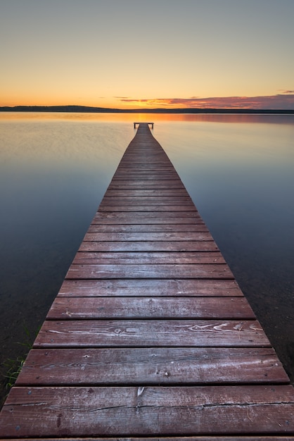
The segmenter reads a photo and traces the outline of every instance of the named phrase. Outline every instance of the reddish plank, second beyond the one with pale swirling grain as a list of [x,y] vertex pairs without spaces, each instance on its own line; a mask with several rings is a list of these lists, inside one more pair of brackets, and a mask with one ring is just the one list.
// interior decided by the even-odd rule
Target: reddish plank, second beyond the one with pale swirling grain
[[63,297],[243,297],[236,280],[100,279],[64,280]]

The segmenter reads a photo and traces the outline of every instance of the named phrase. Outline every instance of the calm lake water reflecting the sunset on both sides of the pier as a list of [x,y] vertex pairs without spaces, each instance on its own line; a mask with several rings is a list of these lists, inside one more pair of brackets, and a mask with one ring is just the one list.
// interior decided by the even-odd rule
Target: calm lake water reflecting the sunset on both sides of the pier
[[293,115],[0,113],[1,363],[44,321],[135,120],[155,122],[294,380]]

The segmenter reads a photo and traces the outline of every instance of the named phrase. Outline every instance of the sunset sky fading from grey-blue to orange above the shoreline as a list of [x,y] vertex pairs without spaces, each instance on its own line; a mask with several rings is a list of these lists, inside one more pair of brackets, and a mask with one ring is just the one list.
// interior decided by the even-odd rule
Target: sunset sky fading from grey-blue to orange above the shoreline
[[294,0],[0,0],[0,106],[294,109]]

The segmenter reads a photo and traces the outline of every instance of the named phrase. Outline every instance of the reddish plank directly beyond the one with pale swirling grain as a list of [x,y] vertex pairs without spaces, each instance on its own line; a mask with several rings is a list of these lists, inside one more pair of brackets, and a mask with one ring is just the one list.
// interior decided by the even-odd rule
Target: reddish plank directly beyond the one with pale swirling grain
[[243,318],[255,315],[242,297],[56,297],[48,319]]

